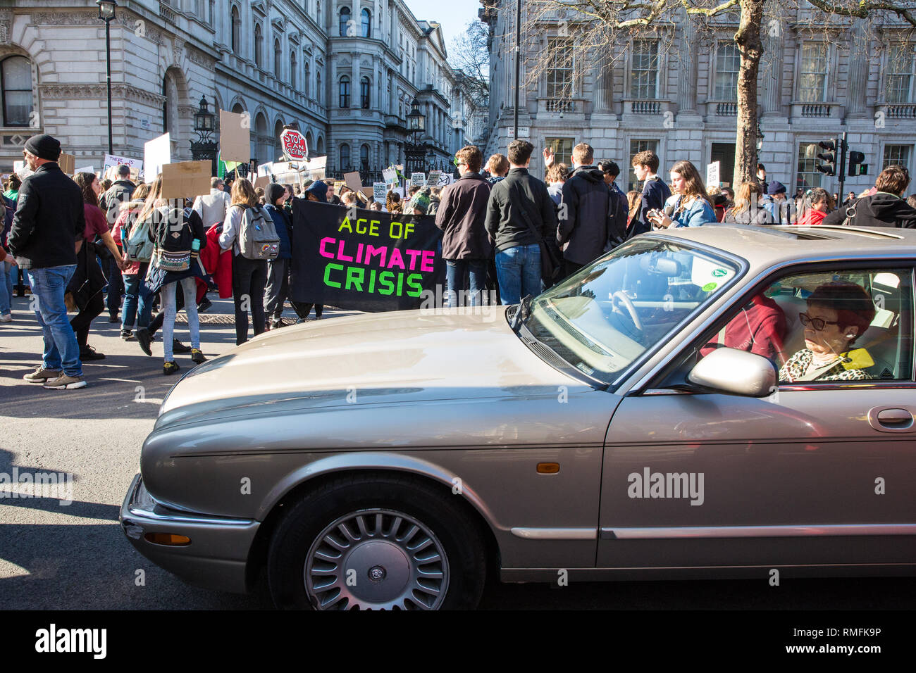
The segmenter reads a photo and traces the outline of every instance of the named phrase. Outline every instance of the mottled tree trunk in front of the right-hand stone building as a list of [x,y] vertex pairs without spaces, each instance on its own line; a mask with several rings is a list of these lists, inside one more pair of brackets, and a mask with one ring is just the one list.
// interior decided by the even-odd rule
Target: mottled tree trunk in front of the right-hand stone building
[[[741,22],[735,41],[741,52],[738,71],[735,185],[757,179],[757,74],[763,44],[760,22],[766,0],[741,0]],[[734,189],[734,188],[733,188]]]

